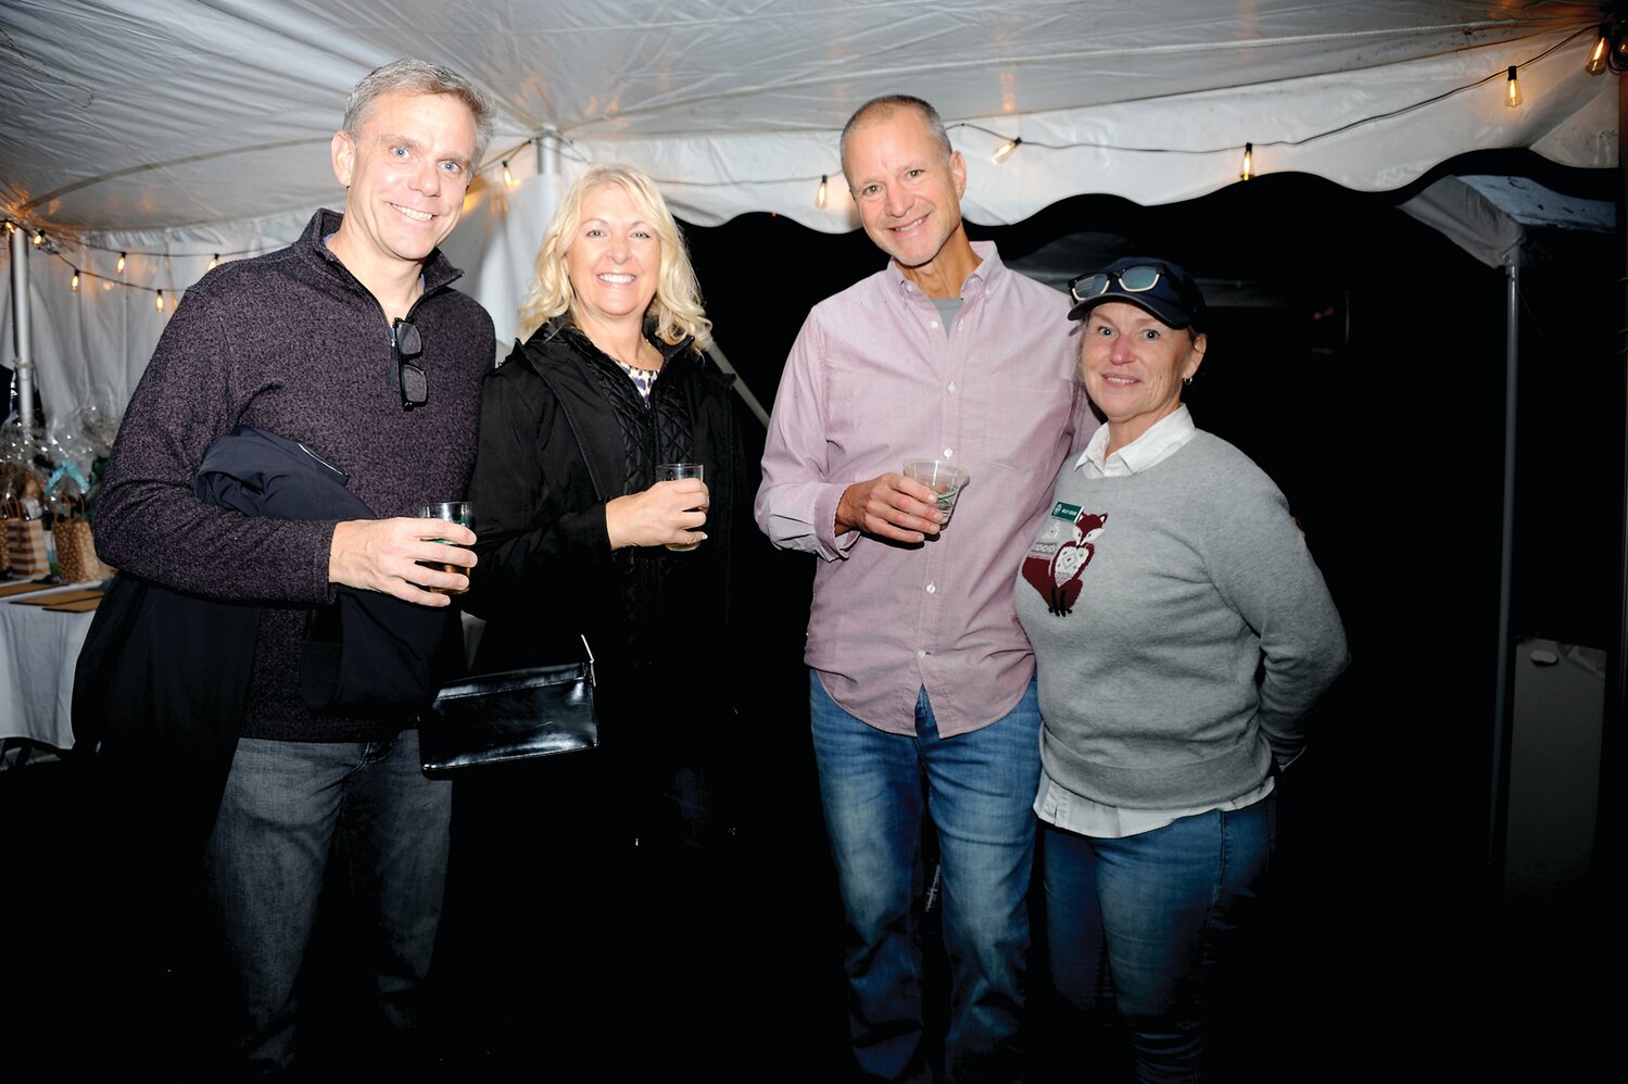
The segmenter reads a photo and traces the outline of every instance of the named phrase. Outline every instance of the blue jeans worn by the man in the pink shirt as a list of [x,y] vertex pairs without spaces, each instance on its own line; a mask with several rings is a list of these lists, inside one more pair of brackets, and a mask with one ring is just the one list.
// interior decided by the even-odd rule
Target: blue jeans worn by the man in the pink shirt
[[848,923],[850,1030],[877,1079],[930,1079],[921,1050],[925,817],[938,830],[951,965],[944,1071],[954,1081],[1021,1076],[1040,708],[1034,682],[983,729],[939,737],[926,690],[917,732],[887,734],[843,711],[809,675],[821,801]]

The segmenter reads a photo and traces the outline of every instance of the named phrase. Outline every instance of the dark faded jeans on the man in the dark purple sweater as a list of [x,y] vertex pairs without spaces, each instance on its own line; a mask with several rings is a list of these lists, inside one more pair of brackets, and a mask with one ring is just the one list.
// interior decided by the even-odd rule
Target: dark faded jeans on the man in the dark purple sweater
[[207,889],[251,1066],[293,1060],[295,981],[335,832],[363,908],[358,924],[371,938],[357,954],[381,1022],[418,1038],[451,807],[451,785],[423,776],[417,731],[381,742],[238,742],[208,841]]

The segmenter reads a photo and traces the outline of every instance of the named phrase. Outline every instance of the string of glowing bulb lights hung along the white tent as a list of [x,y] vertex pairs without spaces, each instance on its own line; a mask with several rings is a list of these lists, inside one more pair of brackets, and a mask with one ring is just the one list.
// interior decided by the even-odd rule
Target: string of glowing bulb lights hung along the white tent
[[[1525,96],[1524,96],[1524,93],[1521,90],[1521,83],[1519,83],[1519,78],[1517,78],[1519,72],[1522,68],[1525,68],[1525,67],[1529,67],[1532,63],[1537,63],[1538,60],[1548,57],[1555,50],[1569,46],[1578,37],[1582,37],[1586,34],[1594,34],[1595,36],[1595,44],[1594,44],[1594,49],[1591,49],[1591,52],[1589,52],[1587,62],[1584,63],[1584,70],[1589,75],[1600,75],[1600,73],[1604,73],[1607,70],[1612,72],[1613,75],[1621,75],[1621,73],[1628,72],[1628,0],[1607,0],[1607,3],[1602,5],[1602,16],[1604,18],[1602,18],[1602,21],[1599,24],[1584,26],[1584,28],[1578,29],[1576,33],[1568,34],[1561,41],[1555,42],[1548,49],[1543,49],[1537,55],[1532,55],[1532,57],[1529,57],[1525,60],[1521,60],[1519,63],[1508,65],[1508,67],[1504,67],[1504,68],[1501,68],[1498,72],[1493,72],[1493,73],[1490,73],[1490,75],[1486,75],[1483,78],[1478,78],[1478,80],[1473,80],[1473,81],[1468,81],[1468,83],[1464,83],[1464,85],[1459,85],[1459,86],[1452,86],[1452,88],[1449,88],[1449,90],[1446,90],[1446,91],[1442,91],[1439,94],[1433,94],[1429,98],[1424,98],[1424,99],[1416,101],[1416,103],[1410,103],[1407,106],[1400,106],[1397,109],[1387,109],[1384,112],[1374,112],[1374,114],[1369,114],[1369,116],[1364,116],[1364,117],[1356,117],[1356,119],[1346,120],[1346,122],[1343,122],[1343,124],[1340,124],[1337,127],[1330,127],[1330,129],[1325,129],[1322,132],[1315,132],[1312,135],[1304,135],[1304,137],[1299,137],[1299,138],[1281,138],[1281,140],[1265,140],[1265,142],[1250,140],[1250,142],[1245,142],[1242,146],[1237,146],[1237,145],[1231,145],[1231,146],[1203,146],[1203,148],[1187,148],[1187,146],[1127,146],[1127,145],[1115,145],[1115,143],[1104,143],[1104,142],[1047,143],[1047,142],[1042,142],[1042,140],[1026,138],[1022,135],[1000,132],[1000,130],[985,127],[982,124],[975,124],[972,120],[962,120],[962,122],[957,122],[957,124],[951,124],[947,127],[949,129],[967,129],[967,130],[972,130],[972,132],[980,132],[983,135],[988,135],[993,140],[998,140],[1000,143],[998,143],[996,150],[991,155],[991,161],[996,163],[996,164],[1009,161],[1022,148],[1034,148],[1034,150],[1042,150],[1042,151],[1045,151],[1045,150],[1063,151],[1063,150],[1076,150],[1076,148],[1096,148],[1096,150],[1115,151],[1115,153],[1128,153],[1128,155],[1218,155],[1218,153],[1226,153],[1226,151],[1231,150],[1231,151],[1236,151],[1236,153],[1241,155],[1239,179],[1241,181],[1250,181],[1255,176],[1258,176],[1255,156],[1257,156],[1257,151],[1260,148],[1304,146],[1307,143],[1314,143],[1317,140],[1324,140],[1324,138],[1338,135],[1341,132],[1350,132],[1351,129],[1358,129],[1358,127],[1366,125],[1366,124],[1377,124],[1377,122],[1382,122],[1382,120],[1389,120],[1392,117],[1398,117],[1398,116],[1403,116],[1403,114],[1408,114],[1408,112],[1413,112],[1413,111],[1418,111],[1418,109],[1429,107],[1429,106],[1433,106],[1433,104],[1436,104],[1439,101],[1444,101],[1447,98],[1452,98],[1455,94],[1464,94],[1464,93],[1478,90],[1481,86],[1486,86],[1488,83],[1496,83],[1499,80],[1504,81],[1504,104],[1508,107],[1511,107],[1511,109],[1519,109],[1524,104],[1524,101],[1525,101]],[[550,140],[552,145],[554,145],[554,148],[555,148],[555,151],[562,158],[575,161],[575,163],[580,163],[580,164],[593,164],[593,160],[589,156],[583,155],[570,138],[567,138],[567,137],[563,137],[563,135],[550,130],[550,132],[545,132],[545,133],[532,135],[532,137],[529,137],[526,140],[521,140],[519,143],[514,143],[511,146],[506,146],[506,148],[493,153],[492,156],[487,158],[485,163],[482,163],[480,166],[477,166],[477,174],[487,174],[488,171],[498,173],[500,174],[500,184],[505,189],[516,187],[518,181],[514,177],[514,171],[511,168],[511,163],[514,161],[516,155],[521,155],[527,148],[542,145],[544,140]],[[840,169],[822,173],[822,174],[801,174],[801,176],[772,177],[772,179],[760,179],[760,181],[742,181],[741,177],[731,177],[728,181],[695,181],[695,179],[689,179],[689,177],[653,177],[653,181],[656,181],[656,184],[685,186],[685,187],[728,187],[728,186],[739,186],[739,184],[814,184],[814,186],[817,186],[816,190],[814,190],[814,207],[824,210],[827,207],[827,203],[829,203],[830,179],[832,179],[832,176],[840,176]],[[151,293],[151,295],[155,295],[153,308],[158,313],[164,313],[166,311],[168,301],[164,298],[164,290],[163,288],[147,286],[147,285],[142,285],[142,283],[137,283],[137,282],[129,282],[125,278],[116,278],[116,277],[96,273],[96,272],[90,270],[88,267],[75,264],[72,259],[68,259],[60,251],[60,244],[55,239],[52,239],[42,228],[33,226],[33,225],[29,225],[26,221],[13,218],[13,216],[5,216],[0,221],[3,221],[3,228],[5,228],[7,233],[16,231],[16,229],[23,229],[23,231],[31,233],[33,234],[31,241],[33,241],[33,246],[36,249],[41,249],[44,252],[49,252],[49,254],[55,256],[70,270],[68,288],[73,290],[75,293],[80,291],[83,278],[93,278],[93,280],[101,282],[104,290],[111,290],[114,286],[124,286],[125,290],[142,290],[142,291]],[[80,241],[80,243],[77,243],[77,246],[80,249],[83,249],[83,251],[91,251],[91,252],[104,252],[104,254],[119,252],[119,259],[116,262],[116,275],[122,275],[124,273],[125,265],[127,265],[127,262],[129,262],[129,259],[132,256],[140,256],[140,257],[147,257],[147,259],[163,259],[166,262],[173,260],[173,259],[200,259],[204,256],[202,252],[181,254],[181,252],[147,252],[147,251],[137,251],[137,249],[114,249],[114,247],[109,247],[109,246],[99,246],[99,244],[86,243],[86,241]],[[257,256],[260,251],[262,249],[246,249],[246,251],[234,251],[234,252],[212,252],[207,270],[213,270],[221,260],[244,257],[244,256]],[[186,293],[184,288],[181,288],[181,290],[171,288],[171,299],[177,299],[184,293]]]

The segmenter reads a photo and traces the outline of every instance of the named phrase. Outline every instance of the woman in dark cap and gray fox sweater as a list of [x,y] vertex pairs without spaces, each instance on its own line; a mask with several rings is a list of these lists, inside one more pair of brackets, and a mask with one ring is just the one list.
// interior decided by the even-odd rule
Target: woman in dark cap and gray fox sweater
[[1107,418],[1024,558],[1052,978],[1117,1006],[1138,1079],[1200,1079],[1203,980],[1271,858],[1276,771],[1345,669],[1340,615],[1260,467],[1193,426],[1205,303],[1167,260],[1070,283]]

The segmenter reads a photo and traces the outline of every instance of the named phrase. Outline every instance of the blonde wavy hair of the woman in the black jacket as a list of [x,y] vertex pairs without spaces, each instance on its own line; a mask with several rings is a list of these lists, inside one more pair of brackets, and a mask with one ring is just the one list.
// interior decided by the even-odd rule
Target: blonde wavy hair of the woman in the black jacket
[[661,272],[656,275],[656,296],[645,313],[645,326],[666,343],[695,335],[695,348],[705,350],[711,343],[711,321],[702,309],[702,290],[690,265],[684,234],[667,210],[667,202],[656,190],[656,182],[633,166],[593,166],[567,190],[537,249],[531,291],[519,308],[519,337],[529,339],[534,330],[562,314],[573,324],[578,322],[576,293],[565,269],[565,254],[576,238],[583,200],[607,184],[622,186],[640,218],[656,229],[656,238],[661,241]]

